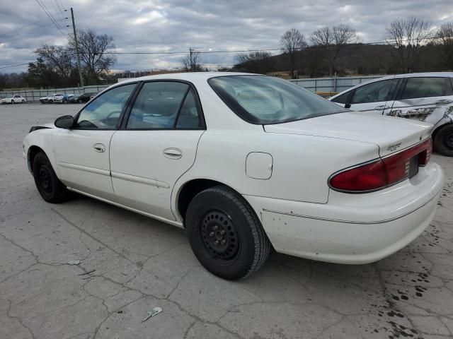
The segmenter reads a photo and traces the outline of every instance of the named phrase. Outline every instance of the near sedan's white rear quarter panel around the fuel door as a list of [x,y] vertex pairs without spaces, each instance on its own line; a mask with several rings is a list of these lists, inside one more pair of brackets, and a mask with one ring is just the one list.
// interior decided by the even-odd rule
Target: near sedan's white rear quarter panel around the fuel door
[[[272,155],[269,179],[247,176],[246,157],[251,152]],[[377,158],[378,154],[377,145],[338,138],[264,131],[206,131],[200,139],[195,164],[176,182],[174,191],[178,192],[192,179],[212,179],[243,195],[326,203],[331,174]],[[177,210],[176,198],[173,208]]]

